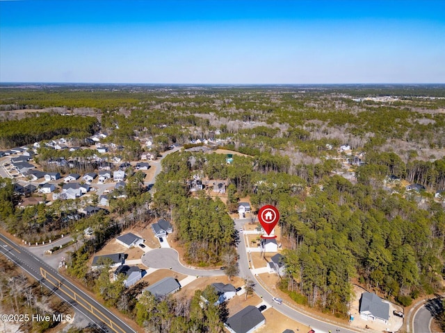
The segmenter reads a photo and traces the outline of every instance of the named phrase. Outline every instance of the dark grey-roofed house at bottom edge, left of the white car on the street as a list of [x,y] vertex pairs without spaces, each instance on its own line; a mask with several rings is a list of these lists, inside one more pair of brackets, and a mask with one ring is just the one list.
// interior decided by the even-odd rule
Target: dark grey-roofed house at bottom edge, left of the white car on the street
[[266,318],[257,307],[248,305],[229,317],[224,323],[231,333],[252,333],[266,323]]

